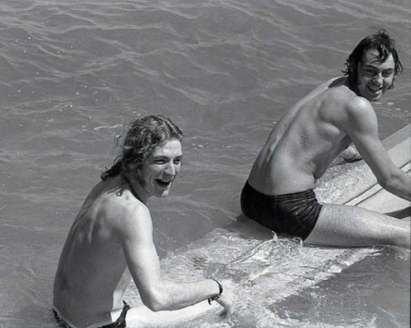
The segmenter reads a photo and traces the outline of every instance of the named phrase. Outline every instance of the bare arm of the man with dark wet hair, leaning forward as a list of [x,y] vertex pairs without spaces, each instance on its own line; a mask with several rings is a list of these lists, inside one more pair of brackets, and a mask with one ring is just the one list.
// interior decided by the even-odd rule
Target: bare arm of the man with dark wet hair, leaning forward
[[378,183],[394,195],[411,201],[411,177],[390,159],[378,136],[377,115],[367,100],[358,99],[350,104],[344,128]]

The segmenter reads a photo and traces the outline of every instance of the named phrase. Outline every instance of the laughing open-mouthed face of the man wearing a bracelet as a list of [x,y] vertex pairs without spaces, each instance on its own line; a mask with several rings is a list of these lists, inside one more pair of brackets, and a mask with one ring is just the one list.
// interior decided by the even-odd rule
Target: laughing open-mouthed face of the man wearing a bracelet
[[173,139],[154,148],[142,165],[140,183],[150,196],[169,195],[171,184],[180,172],[183,153],[181,142]]

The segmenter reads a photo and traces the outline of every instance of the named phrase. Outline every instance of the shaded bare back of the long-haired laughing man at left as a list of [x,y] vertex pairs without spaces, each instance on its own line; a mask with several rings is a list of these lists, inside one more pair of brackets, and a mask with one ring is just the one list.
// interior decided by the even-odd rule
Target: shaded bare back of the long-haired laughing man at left
[[87,324],[82,318],[111,322],[110,313],[121,310],[131,280],[115,219],[136,199],[128,190],[118,192],[119,179],[102,181],[91,190],[69,231],[55,275],[54,306],[79,326]]

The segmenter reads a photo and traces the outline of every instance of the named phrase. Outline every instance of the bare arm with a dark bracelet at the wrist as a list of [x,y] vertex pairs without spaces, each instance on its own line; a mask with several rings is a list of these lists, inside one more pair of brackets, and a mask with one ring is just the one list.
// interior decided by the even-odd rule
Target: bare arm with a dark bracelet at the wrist
[[[119,238],[127,265],[143,303],[152,311],[178,310],[214,297],[218,284],[211,280],[175,282],[161,276],[160,261],[153,242],[153,225],[148,209],[139,204],[127,209]],[[219,299],[230,312],[232,294],[225,288]]]

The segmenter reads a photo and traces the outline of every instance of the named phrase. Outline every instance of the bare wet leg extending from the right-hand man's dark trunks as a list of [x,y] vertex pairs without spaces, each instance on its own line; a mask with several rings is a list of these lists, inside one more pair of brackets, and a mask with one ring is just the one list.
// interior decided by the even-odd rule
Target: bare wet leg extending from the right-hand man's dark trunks
[[396,245],[410,248],[410,222],[361,207],[324,204],[304,241],[327,246]]

